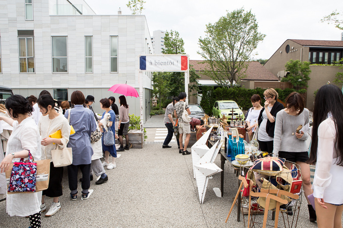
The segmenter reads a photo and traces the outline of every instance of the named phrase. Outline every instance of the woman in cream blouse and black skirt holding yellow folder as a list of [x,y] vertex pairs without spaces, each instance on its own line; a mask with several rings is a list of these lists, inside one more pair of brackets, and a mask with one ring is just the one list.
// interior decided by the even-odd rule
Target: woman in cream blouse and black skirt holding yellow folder
[[[54,215],[61,209],[59,197],[63,195],[62,178],[63,167],[54,167],[51,159],[51,150],[58,146],[67,146],[70,136],[70,125],[68,120],[56,112],[54,109],[55,102],[50,95],[42,95],[38,98],[38,107],[42,113],[42,117],[38,123],[39,133],[42,137],[41,149],[42,160],[50,159],[50,179],[49,186],[42,192],[42,204],[40,205],[41,212],[46,211],[45,196],[53,198],[51,206],[45,217]],[[50,138],[49,135],[61,130],[62,138]],[[61,148],[60,147],[60,148]]]

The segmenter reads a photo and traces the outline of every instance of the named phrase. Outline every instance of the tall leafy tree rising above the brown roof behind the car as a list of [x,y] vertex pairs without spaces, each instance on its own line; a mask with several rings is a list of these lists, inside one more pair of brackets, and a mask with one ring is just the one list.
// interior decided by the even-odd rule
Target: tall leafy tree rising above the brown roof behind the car
[[205,74],[227,88],[245,77],[252,51],[265,37],[258,32],[255,15],[244,8],[227,12],[214,24],[209,23],[205,33],[204,39],[199,38],[201,52],[198,52],[209,65]]

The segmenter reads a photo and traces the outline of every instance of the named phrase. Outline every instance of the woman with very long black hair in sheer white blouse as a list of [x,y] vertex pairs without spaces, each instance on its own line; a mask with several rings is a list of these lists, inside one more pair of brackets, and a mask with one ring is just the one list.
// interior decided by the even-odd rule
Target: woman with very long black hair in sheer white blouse
[[334,85],[322,86],[315,98],[309,164],[316,164],[313,196],[318,227],[342,227],[343,95]]

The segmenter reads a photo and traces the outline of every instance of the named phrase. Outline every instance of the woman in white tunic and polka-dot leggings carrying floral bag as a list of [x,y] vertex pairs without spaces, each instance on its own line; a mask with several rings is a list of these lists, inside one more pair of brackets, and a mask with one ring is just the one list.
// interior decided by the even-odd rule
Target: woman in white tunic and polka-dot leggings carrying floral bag
[[[21,95],[14,95],[6,100],[6,109],[11,118],[0,116],[0,120],[13,126],[8,140],[6,157],[0,163],[0,172],[8,170],[10,163],[27,158],[29,150],[35,161],[40,160],[40,135],[31,115],[32,106]],[[8,194],[6,211],[10,216],[29,216],[31,227],[40,227],[41,192]],[[14,225],[15,226],[15,225]]]

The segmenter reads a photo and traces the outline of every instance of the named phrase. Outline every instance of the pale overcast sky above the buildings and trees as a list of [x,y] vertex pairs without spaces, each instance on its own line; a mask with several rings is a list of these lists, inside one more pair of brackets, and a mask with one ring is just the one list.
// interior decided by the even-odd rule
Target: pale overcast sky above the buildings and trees
[[[130,15],[128,0],[85,0],[97,15]],[[334,25],[321,23],[320,19],[334,10],[343,11],[343,1],[289,0],[145,0],[142,15],[146,16],[150,35],[155,30],[175,30],[185,42],[190,59],[201,56],[198,40],[205,37],[206,24],[215,23],[233,11],[244,7],[252,10],[259,31],[266,35],[254,58],[268,59],[287,39],[340,40],[341,32]]]

